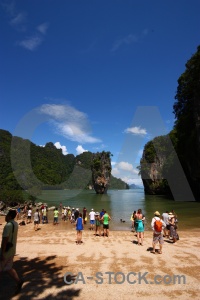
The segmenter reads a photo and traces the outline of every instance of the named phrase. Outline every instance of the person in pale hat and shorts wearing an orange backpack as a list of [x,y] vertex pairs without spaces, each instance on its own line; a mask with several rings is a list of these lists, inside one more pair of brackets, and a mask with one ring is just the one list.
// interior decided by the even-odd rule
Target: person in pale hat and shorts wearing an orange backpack
[[165,222],[160,218],[160,213],[159,211],[155,211],[154,217],[152,218],[151,221],[151,228],[153,230],[153,250],[151,253],[155,254],[156,253],[156,244],[159,243],[160,249],[158,251],[159,254],[162,254],[162,246],[164,243],[163,239],[163,228],[166,227]]

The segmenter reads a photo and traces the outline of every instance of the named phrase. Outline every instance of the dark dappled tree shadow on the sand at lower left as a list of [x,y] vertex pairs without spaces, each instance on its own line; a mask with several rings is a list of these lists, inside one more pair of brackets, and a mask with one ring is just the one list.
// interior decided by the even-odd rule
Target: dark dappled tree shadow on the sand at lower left
[[[72,288],[72,286],[64,282],[64,275],[67,272],[68,267],[65,266],[66,271],[63,272],[63,267],[56,262],[57,256],[48,256],[44,259],[33,258],[28,259],[22,257],[20,260],[14,262],[14,269],[18,272],[19,277],[24,279],[24,285],[21,292],[14,296],[15,282],[9,275],[4,272],[0,277],[0,299],[66,299],[72,300],[75,297],[79,297],[81,289]],[[75,280],[73,278],[67,278],[67,281]],[[63,288],[62,291],[57,289]],[[46,290],[48,291],[46,296],[42,295]]]

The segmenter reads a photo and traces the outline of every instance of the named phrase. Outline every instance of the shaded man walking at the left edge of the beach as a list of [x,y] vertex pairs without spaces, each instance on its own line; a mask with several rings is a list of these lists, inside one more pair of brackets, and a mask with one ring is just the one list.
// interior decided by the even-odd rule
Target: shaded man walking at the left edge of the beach
[[[23,285],[23,280],[19,278],[13,269],[13,258],[16,252],[18,223],[14,221],[16,210],[9,210],[5,217],[7,224],[4,226],[0,251],[0,274],[7,272],[16,282],[15,295],[17,295]],[[9,247],[10,245],[10,247]]]

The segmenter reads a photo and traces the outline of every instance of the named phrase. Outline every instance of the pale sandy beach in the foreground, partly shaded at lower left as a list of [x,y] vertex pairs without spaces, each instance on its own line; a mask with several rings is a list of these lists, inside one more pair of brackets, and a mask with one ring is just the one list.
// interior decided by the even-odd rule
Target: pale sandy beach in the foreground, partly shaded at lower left
[[165,239],[163,253],[152,254],[151,231],[138,246],[131,231],[100,237],[88,228],[77,245],[67,222],[20,226],[14,267],[25,283],[12,297],[15,283],[4,273],[0,299],[199,299],[200,229],[179,231],[177,243]]

